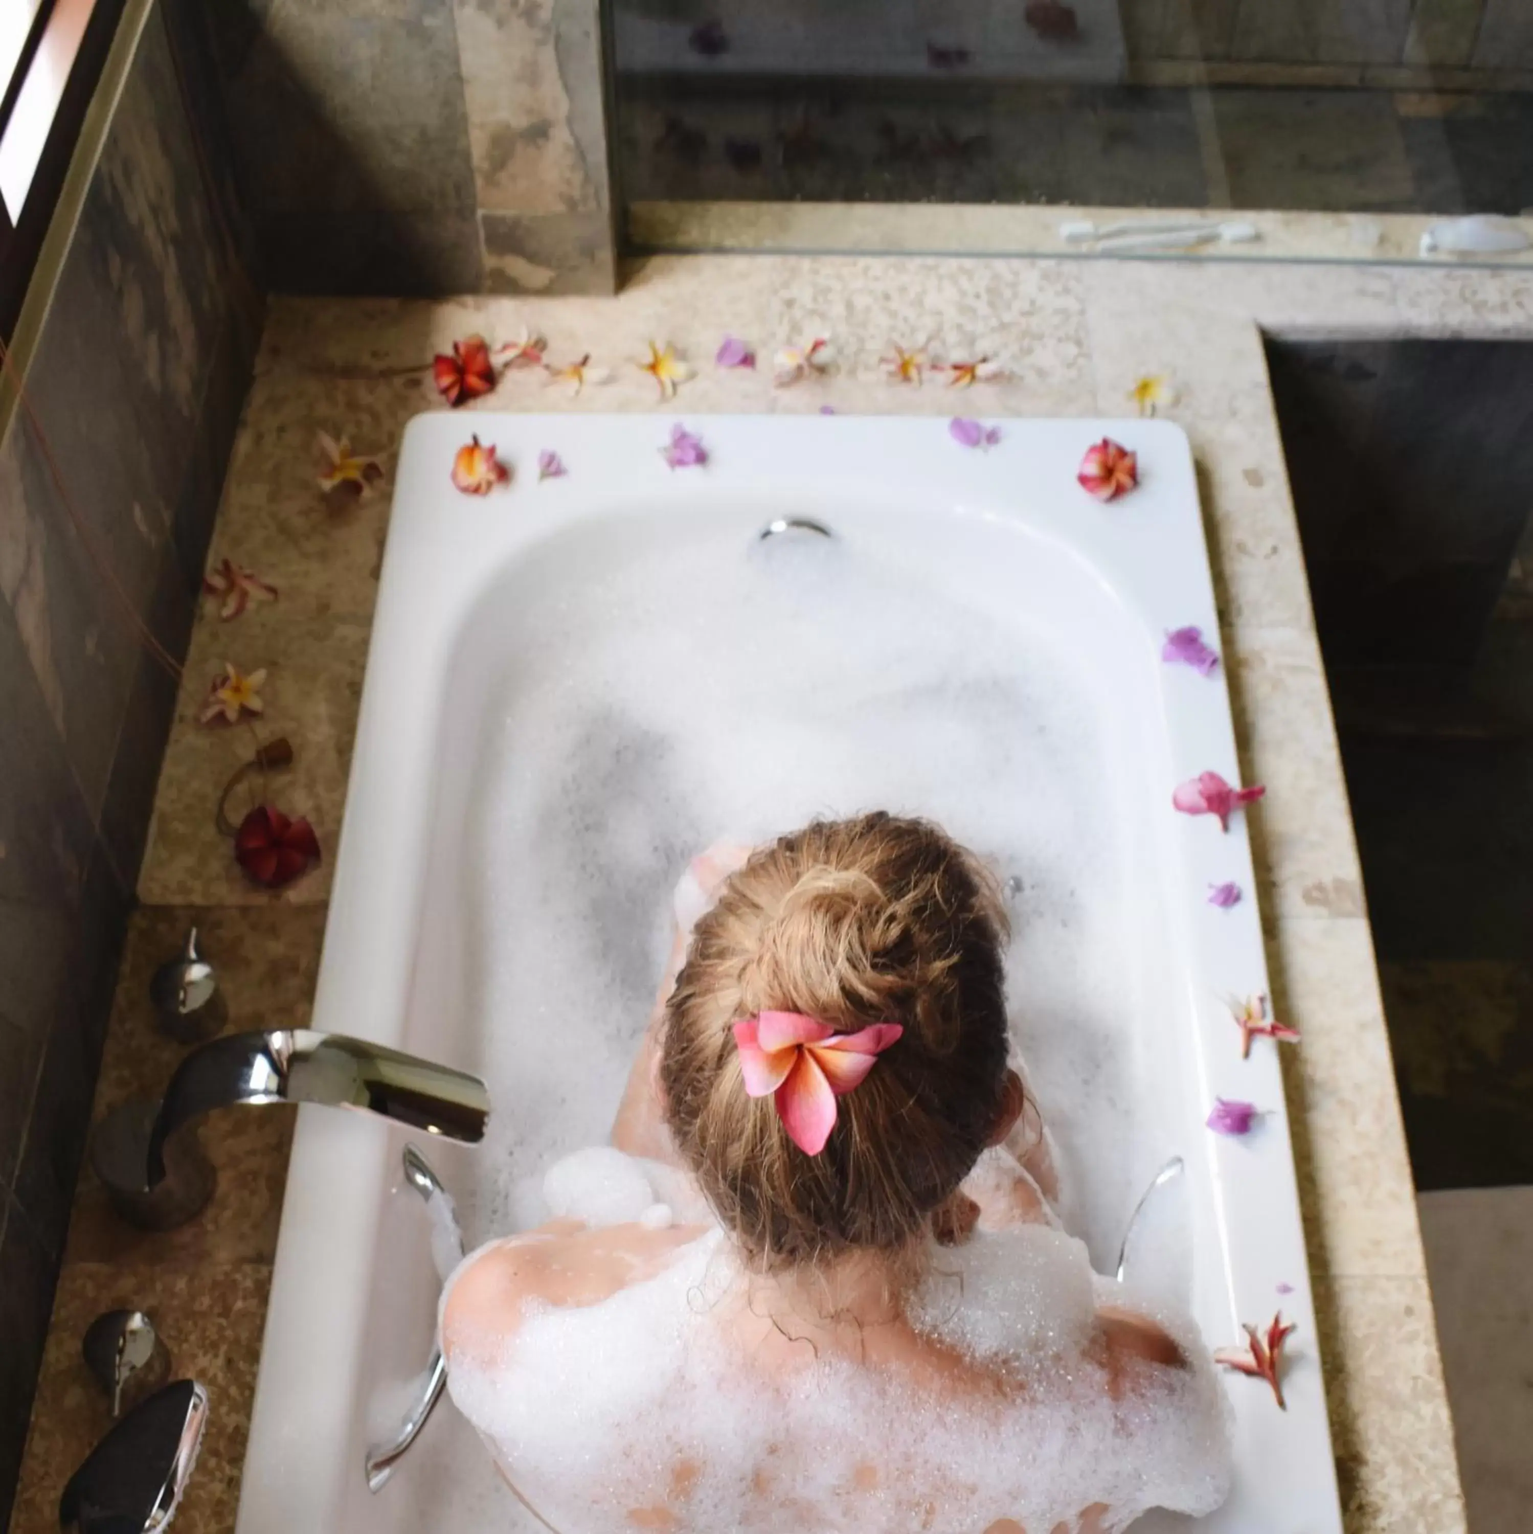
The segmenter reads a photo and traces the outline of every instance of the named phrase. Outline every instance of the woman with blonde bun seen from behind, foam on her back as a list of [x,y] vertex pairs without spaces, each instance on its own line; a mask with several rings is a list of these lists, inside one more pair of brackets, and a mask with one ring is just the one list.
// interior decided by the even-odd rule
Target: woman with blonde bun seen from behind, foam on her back
[[984,870],[887,815],[694,868],[717,899],[615,1149],[571,1158],[566,1215],[443,1293],[453,1397],[517,1496],[559,1534],[1056,1534],[1217,1506],[1195,1328],[1117,1302],[1053,1220]]

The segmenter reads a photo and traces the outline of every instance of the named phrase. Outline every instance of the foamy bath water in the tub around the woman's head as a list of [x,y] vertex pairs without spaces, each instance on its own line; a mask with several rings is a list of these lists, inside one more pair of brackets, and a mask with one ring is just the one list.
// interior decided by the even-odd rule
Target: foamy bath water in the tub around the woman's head
[[470,1244],[543,1218],[606,1137],[687,859],[816,815],[930,816],[1010,891],[1013,1029],[1099,1267],[1165,1154],[1102,680],[865,546],[654,546],[522,589],[462,807],[468,1029],[490,1140]]

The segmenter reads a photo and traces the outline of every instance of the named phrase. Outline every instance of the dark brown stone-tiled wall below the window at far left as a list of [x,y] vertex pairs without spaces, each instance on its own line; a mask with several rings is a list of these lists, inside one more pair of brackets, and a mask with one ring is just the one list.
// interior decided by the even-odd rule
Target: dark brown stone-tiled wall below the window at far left
[[132,629],[184,653],[261,322],[183,20],[127,9],[130,72],[40,273],[35,425],[0,442],[0,1509],[175,706]]

